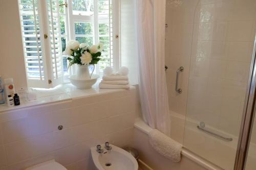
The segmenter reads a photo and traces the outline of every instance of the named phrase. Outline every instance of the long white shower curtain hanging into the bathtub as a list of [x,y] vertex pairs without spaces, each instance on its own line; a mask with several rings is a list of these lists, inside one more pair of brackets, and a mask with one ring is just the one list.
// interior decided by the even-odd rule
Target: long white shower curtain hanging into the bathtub
[[165,0],[135,0],[139,90],[143,119],[170,134],[164,70]]

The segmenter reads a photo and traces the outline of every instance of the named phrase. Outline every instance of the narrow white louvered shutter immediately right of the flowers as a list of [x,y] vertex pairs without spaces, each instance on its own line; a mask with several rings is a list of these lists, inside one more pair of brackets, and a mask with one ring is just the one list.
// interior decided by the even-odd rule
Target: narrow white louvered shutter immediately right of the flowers
[[98,38],[104,44],[99,69],[113,66],[112,0],[98,0]]

